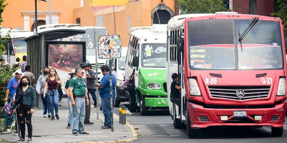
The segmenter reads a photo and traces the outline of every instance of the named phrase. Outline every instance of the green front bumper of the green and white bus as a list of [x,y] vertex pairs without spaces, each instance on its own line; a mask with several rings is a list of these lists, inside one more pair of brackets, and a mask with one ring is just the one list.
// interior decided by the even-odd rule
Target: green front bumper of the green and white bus
[[145,98],[146,107],[168,107],[167,98]]

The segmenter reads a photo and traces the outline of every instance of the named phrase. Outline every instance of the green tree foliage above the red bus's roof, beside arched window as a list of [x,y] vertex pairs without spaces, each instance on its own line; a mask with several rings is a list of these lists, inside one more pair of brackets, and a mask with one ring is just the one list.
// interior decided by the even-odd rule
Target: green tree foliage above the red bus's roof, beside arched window
[[177,0],[177,6],[181,14],[230,11],[224,7],[222,0]]

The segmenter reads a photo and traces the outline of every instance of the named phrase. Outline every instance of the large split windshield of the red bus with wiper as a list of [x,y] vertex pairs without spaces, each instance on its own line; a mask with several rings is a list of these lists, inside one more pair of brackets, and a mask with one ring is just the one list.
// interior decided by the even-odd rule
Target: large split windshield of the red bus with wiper
[[[190,68],[195,70],[282,69],[282,39],[279,22],[258,20],[240,43],[239,33],[243,33],[251,21],[252,19],[189,21]],[[237,47],[234,46],[235,44]]]

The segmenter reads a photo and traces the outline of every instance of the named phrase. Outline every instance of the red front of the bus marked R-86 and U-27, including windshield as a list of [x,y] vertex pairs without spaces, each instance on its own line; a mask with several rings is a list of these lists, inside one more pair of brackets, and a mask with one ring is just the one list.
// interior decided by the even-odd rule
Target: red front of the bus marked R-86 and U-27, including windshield
[[274,136],[282,136],[286,57],[281,19],[233,13],[184,23],[184,46],[178,49],[189,137],[210,126],[271,126]]

